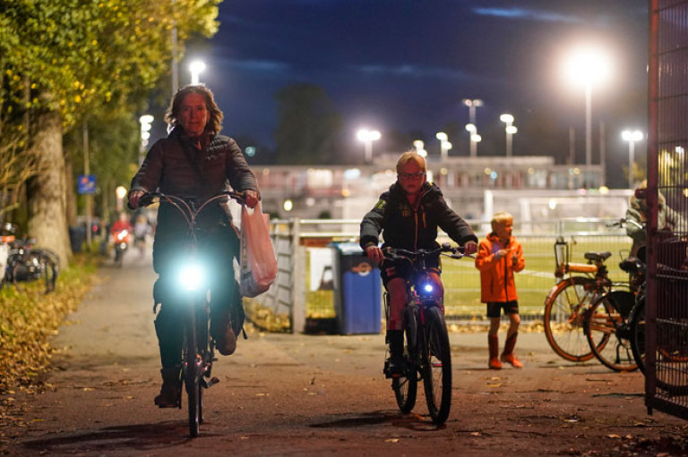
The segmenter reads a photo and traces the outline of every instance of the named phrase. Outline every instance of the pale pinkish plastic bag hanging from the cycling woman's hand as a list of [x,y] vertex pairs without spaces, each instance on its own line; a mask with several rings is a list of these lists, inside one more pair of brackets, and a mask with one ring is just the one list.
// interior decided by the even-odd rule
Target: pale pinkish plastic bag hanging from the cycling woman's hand
[[277,276],[277,258],[270,239],[270,216],[254,209],[241,209],[240,292],[255,297],[270,289]]

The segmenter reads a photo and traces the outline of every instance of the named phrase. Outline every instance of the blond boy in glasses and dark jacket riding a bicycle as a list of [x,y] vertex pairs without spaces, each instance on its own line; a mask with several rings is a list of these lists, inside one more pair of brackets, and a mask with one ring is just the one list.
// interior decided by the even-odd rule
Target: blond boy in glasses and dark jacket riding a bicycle
[[[439,244],[437,227],[465,247],[466,254],[477,251],[477,237],[459,215],[447,206],[442,191],[433,183],[426,182],[426,160],[415,151],[408,151],[397,161],[397,182],[385,191],[374,208],[361,222],[360,244],[366,255],[382,265],[383,284],[390,294],[390,316],[387,322],[386,342],[390,345],[390,360],[385,364],[393,376],[403,371],[404,336],[401,316],[406,306],[407,268],[385,260],[378,247],[383,234],[383,248],[405,250],[435,249]],[[440,279],[439,258],[431,265],[433,279],[438,290],[443,290]]]

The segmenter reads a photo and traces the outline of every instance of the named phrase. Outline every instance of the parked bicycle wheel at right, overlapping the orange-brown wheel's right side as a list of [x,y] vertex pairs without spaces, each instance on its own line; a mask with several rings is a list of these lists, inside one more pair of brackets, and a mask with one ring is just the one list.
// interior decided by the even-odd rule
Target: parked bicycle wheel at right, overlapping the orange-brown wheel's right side
[[585,329],[590,351],[603,365],[615,371],[633,371],[638,364],[633,358],[631,329],[615,295],[632,292],[610,292],[593,303],[585,314]]

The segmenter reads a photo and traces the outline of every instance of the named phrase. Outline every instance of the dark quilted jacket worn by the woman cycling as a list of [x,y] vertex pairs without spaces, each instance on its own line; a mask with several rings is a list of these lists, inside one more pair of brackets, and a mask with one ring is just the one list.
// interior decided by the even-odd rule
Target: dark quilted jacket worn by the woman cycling
[[[139,171],[132,180],[131,191],[155,191],[193,198],[202,203],[223,190],[255,190],[258,185],[241,148],[231,138],[216,135],[198,148],[176,127],[168,138],[158,140],[150,148]],[[229,214],[219,204],[204,209],[198,224],[215,231],[227,225]],[[187,225],[174,207],[163,203],[158,212],[155,239],[177,238],[187,233]]]

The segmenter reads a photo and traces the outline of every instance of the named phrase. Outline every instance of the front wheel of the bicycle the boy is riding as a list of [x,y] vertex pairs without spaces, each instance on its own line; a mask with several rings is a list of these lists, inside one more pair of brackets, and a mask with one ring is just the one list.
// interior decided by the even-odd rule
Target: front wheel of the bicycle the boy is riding
[[427,410],[435,424],[443,424],[452,407],[452,354],[447,326],[435,307],[426,311],[425,342],[423,386]]

